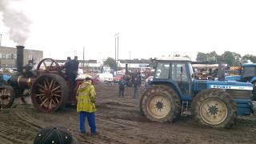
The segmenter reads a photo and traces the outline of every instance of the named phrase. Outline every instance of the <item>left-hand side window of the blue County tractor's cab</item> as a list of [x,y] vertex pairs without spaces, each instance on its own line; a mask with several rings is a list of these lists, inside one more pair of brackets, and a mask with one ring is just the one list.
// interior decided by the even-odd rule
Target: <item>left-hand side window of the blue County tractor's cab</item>
[[170,70],[170,64],[169,63],[158,63],[158,66],[154,72],[154,78],[163,78],[168,79],[169,78],[169,70]]

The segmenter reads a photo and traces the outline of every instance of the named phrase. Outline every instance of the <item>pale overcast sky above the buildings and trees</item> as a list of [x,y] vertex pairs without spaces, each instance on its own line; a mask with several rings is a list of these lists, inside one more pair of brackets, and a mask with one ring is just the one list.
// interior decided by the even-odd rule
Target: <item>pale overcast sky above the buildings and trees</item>
[[[14,0],[11,9],[30,19],[25,46],[45,57],[78,55],[114,58],[119,33],[119,58],[225,50],[255,54],[256,1],[237,0]],[[1,8],[1,6],[0,6]],[[2,22],[2,46],[16,46]]]

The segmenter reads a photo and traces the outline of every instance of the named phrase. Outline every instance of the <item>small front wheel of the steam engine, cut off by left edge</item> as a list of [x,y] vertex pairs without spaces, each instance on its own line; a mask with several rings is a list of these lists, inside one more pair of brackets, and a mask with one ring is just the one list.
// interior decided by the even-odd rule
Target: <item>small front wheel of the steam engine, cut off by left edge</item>
[[10,108],[14,103],[14,90],[10,86],[0,87],[0,108]]

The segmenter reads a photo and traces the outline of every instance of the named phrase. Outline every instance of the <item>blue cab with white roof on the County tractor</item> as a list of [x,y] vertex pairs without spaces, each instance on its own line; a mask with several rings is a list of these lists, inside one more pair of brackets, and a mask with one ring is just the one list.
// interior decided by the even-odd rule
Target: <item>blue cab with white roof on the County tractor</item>
[[154,83],[166,82],[179,87],[182,99],[191,100],[194,71],[189,58],[154,58]]

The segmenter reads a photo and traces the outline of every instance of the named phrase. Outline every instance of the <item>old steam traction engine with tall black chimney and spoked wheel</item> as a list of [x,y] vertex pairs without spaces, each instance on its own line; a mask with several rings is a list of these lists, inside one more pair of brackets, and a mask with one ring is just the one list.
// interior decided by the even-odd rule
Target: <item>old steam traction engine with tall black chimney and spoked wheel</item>
[[[14,94],[24,95],[24,90],[30,90],[30,96],[35,108],[42,112],[60,110],[66,104],[75,104],[77,87],[70,89],[70,84],[64,67],[51,58],[42,59],[37,69],[23,70],[24,46],[17,46],[17,73],[12,75],[8,84],[13,87]],[[82,80],[77,80],[78,86]]]

